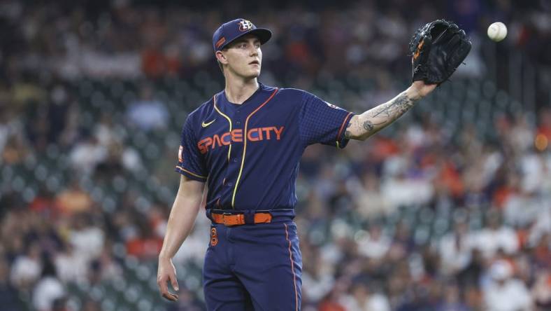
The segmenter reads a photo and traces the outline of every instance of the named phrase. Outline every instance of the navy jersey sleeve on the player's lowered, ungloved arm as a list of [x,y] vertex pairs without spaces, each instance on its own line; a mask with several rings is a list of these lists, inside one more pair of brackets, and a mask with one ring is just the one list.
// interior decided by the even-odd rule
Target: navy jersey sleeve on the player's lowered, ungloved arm
[[176,172],[196,181],[206,181],[208,177],[205,160],[199,152],[199,148],[197,148],[197,139],[195,138],[192,120],[190,120],[189,116],[182,130]]

